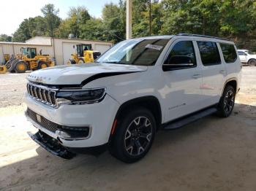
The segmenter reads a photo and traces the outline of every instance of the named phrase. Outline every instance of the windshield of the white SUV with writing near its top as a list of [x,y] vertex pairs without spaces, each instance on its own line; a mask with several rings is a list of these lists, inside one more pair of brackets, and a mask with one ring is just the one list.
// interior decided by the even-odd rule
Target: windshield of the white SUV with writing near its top
[[170,39],[129,39],[105,52],[97,63],[153,66]]

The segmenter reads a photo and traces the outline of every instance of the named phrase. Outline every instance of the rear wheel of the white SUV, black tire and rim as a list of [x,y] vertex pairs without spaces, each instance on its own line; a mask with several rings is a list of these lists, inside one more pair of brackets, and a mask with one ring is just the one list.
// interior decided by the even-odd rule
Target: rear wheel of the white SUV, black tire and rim
[[227,85],[222,93],[217,106],[217,115],[219,117],[229,117],[235,105],[236,91],[231,85]]

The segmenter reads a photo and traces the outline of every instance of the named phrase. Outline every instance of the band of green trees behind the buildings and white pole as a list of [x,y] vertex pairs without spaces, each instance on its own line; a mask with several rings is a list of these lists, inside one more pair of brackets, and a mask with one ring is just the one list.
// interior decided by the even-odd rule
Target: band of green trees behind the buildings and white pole
[[[151,2],[151,4],[149,3]],[[205,34],[255,38],[255,0],[133,0],[132,36],[148,36],[151,5],[151,35]],[[24,42],[33,36],[56,36],[119,42],[125,38],[126,1],[105,4],[102,17],[89,15],[86,7],[71,7],[61,20],[53,4],[42,8],[43,17],[23,20],[13,41]],[[3,39],[4,37],[2,37]]]

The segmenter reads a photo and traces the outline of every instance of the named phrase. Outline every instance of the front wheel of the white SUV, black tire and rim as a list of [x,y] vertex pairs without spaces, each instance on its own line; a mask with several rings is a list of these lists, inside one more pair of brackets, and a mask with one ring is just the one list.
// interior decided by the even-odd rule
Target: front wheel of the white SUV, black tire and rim
[[151,148],[156,128],[156,120],[148,109],[132,107],[118,118],[110,154],[124,163],[137,162]]

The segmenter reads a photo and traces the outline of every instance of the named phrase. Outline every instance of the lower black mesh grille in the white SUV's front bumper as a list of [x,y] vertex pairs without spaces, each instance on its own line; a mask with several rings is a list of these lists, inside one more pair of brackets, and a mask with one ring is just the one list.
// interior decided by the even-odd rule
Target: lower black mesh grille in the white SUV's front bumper
[[37,122],[39,125],[41,125],[43,128],[46,128],[48,130],[50,130],[51,132],[55,133],[56,130],[61,129],[62,126],[56,124],[55,122],[51,122],[47,119],[45,119],[45,117],[40,116],[41,121],[37,120],[37,113],[33,112],[31,109],[27,109],[26,110],[26,114],[31,118],[31,120],[33,120],[34,122]]

